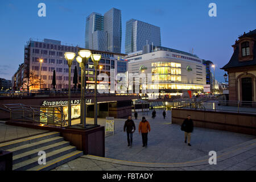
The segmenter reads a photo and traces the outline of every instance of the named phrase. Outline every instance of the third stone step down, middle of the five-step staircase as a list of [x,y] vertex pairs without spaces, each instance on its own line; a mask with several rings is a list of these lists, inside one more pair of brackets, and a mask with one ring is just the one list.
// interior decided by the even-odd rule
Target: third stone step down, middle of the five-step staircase
[[20,162],[23,162],[24,160],[28,160],[31,158],[34,158],[38,156],[39,151],[45,151],[46,153],[54,151],[54,150],[59,150],[60,148],[69,146],[69,142],[67,141],[61,141],[53,144],[49,144],[48,146],[40,146],[39,148],[36,148],[34,150],[30,150],[27,152],[23,152],[18,155],[13,156],[13,164],[17,164]]

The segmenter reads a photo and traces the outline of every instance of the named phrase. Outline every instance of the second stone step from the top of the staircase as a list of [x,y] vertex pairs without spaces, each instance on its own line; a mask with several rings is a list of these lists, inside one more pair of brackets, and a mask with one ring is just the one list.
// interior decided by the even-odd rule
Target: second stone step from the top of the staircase
[[35,150],[36,148],[48,146],[49,144],[58,143],[63,141],[63,137],[53,137],[53,138],[47,138],[44,140],[40,140],[38,142],[23,144],[18,147],[9,148],[8,151],[13,152],[13,155],[22,154],[23,152]]

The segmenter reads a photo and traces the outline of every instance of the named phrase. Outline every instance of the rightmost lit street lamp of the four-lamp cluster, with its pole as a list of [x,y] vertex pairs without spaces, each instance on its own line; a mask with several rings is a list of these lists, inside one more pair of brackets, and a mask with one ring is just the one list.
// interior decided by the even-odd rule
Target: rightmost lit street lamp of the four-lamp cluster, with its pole
[[97,125],[97,114],[98,114],[98,105],[97,105],[97,65],[98,61],[101,60],[101,55],[93,54],[91,59],[94,63],[94,125]]

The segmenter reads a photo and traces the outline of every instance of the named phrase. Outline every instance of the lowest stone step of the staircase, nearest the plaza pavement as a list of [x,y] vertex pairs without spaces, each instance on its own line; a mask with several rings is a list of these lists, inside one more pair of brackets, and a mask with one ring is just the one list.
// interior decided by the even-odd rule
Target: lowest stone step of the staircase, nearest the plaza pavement
[[28,171],[48,171],[53,168],[56,168],[62,164],[68,163],[71,160],[79,158],[84,155],[82,151],[73,151],[69,154],[60,156],[59,158],[55,158],[46,162],[46,165],[38,165],[32,168],[27,169]]

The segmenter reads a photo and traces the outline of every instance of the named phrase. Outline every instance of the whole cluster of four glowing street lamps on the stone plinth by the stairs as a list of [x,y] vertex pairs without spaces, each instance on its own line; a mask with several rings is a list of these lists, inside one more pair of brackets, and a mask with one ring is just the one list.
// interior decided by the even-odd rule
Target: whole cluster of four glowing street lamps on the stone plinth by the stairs
[[[82,123],[82,127],[86,127],[86,103],[85,103],[85,65],[88,62],[88,59],[91,57],[94,62],[94,125],[97,125],[97,65],[98,61],[101,59],[101,55],[92,54],[92,52],[88,50],[80,50],[78,52],[79,56],[76,57],[77,62],[81,67],[81,117],[80,122]],[[74,52],[65,52],[65,59],[68,61],[68,126],[71,126],[71,66],[72,61],[75,59],[76,53]]]

